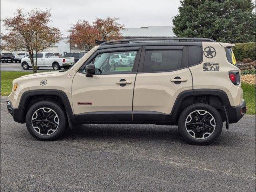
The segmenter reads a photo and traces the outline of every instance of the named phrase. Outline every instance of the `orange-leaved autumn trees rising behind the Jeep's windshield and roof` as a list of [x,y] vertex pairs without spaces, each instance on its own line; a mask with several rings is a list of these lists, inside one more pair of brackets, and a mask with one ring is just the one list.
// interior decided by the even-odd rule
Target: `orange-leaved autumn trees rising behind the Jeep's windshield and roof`
[[119,18],[96,18],[91,25],[86,20],[79,20],[75,23],[70,32],[71,44],[76,44],[78,48],[91,50],[95,46],[95,40],[116,40],[120,39],[122,34],[120,30],[124,29],[123,24],[118,23]]

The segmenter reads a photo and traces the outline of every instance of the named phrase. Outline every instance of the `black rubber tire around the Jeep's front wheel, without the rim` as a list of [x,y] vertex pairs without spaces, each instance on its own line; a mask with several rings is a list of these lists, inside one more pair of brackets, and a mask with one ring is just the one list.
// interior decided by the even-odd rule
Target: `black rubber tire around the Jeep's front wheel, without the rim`
[[[42,107],[47,107],[50,108],[52,110],[54,110],[54,112],[56,112],[56,114],[58,115],[59,118],[59,126],[57,128],[57,130],[50,135],[41,135],[38,132],[36,132],[32,126],[31,123],[31,119],[32,119],[32,115],[34,114],[34,112],[36,110],[38,110],[39,108]],[[38,140],[44,140],[44,141],[49,141],[49,140],[54,140],[56,138],[58,138],[65,130],[66,128],[66,115],[64,113],[64,110],[56,103],[51,102],[51,101],[40,101],[35,103],[34,105],[32,105],[27,114],[26,114],[26,126],[28,129],[28,132],[30,132],[30,134],[38,139]]]

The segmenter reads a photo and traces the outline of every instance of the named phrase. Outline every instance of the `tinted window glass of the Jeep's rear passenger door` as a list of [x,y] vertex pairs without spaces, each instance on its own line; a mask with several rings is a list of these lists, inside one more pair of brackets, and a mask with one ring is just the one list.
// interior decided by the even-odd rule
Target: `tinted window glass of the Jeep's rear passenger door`
[[146,50],[143,72],[165,72],[181,68],[183,50]]

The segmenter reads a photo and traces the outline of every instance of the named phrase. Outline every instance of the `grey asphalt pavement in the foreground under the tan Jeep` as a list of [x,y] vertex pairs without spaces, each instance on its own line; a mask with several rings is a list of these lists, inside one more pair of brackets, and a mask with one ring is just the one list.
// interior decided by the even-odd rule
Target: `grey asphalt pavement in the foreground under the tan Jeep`
[[190,145],[176,126],[83,125],[41,142],[1,96],[1,192],[255,191],[255,116],[216,142]]

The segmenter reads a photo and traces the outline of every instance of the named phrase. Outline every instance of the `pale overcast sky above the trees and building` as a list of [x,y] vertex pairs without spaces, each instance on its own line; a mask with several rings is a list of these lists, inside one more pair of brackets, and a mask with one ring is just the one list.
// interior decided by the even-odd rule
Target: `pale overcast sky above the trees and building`
[[[0,0],[0,18],[13,16],[18,8],[51,10],[52,26],[66,35],[78,20],[118,17],[124,28],[170,26],[178,14],[180,0]],[[1,33],[6,30],[2,27]]]

